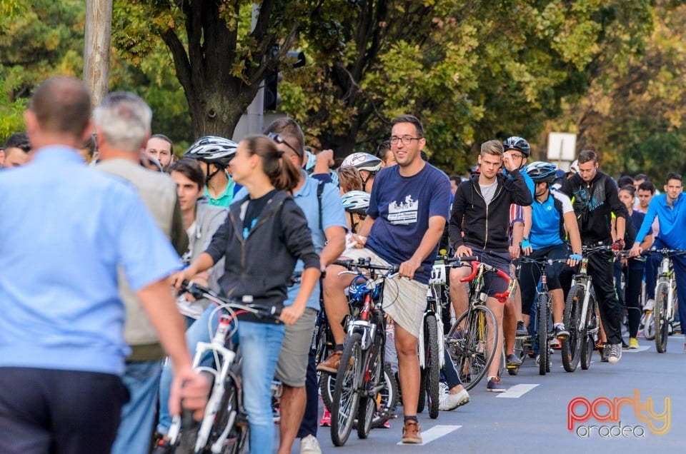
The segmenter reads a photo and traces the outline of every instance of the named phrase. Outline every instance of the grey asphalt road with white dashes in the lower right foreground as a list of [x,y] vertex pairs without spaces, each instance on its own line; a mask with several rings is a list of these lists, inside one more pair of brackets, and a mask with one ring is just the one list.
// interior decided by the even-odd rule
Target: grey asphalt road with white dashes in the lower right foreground
[[[372,430],[367,440],[353,431],[347,444],[336,448],[329,428],[319,428],[317,439],[324,453],[683,452],[684,341],[670,336],[667,353],[660,354],[655,343],[639,338],[640,350],[624,350],[620,363],[600,363],[594,353],[589,370],[579,367],[574,373],[562,368],[559,350],[545,376],[527,359],[519,375],[504,375],[507,393],[487,392],[483,380],[470,391],[469,404],[440,412],[435,420],[426,411],[420,414],[423,445],[398,444],[402,413],[390,429]],[[299,453],[298,442],[292,452]]]

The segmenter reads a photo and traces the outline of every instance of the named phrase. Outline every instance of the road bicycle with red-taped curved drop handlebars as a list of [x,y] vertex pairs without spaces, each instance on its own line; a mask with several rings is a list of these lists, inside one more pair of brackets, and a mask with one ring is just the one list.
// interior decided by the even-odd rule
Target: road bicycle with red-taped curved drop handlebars
[[470,390],[486,375],[499,338],[497,320],[486,306],[488,294],[484,289],[484,273],[497,273],[507,281],[507,291],[495,295],[500,303],[507,300],[516,281],[510,280],[509,276],[498,268],[479,262],[476,257],[462,257],[461,260],[471,261],[472,265],[472,273],[459,280],[472,282],[469,306],[453,323],[445,343],[455,368],[462,374],[460,378],[464,388]]

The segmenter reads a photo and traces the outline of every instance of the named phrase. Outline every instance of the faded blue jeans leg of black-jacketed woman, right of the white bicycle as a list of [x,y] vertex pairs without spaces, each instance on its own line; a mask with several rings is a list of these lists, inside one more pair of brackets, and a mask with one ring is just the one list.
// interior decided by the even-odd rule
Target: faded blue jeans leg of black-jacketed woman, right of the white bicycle
[[238,323],[243,356],[243,403],[250,423],[250,452],[271,453],[274,448],[272,379],[286,328],[268,323]]

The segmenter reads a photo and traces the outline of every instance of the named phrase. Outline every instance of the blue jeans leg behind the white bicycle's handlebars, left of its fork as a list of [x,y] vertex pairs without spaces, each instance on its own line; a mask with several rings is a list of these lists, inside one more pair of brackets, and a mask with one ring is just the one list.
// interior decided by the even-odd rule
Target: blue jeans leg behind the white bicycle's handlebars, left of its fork
[[[195,355],[195,345],[199,342],[209,342],[212,339],[212,334],[208,329],[207,323],[216,306],[211,305],[207,308],[200,318],[189,326],[186,331],[186,343],[191,356]],[[219,317],[217,313],[212,316],[212,333],[217,331],[219,324]],[[212,366],[214,358],[212,353],[207,352],[206,356],[201,361],[201,365]],[[162,369],[162,375],[159,380],[159,420],[157,421],[157,432],[166,435],[169,432],[169,426],[172,425],[172,415],[169,414],[169,388],[172,387],[172,362],[167,360]]]

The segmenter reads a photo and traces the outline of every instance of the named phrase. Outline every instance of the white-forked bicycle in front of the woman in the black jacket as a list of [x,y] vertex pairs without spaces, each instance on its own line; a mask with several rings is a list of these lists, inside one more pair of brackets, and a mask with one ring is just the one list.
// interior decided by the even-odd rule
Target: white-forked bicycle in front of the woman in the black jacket
[[[234,348],[232,331],[236,317],[252,313],[258,318],[278,319],[279,308],[261,306],[251,296],[242,301],[222,298],[209,288],[184,281],[182,289],[195,298],[207,298],[217,303],[220,311],[219,326],[211,342],[199,342],[193,358],[193,368],[212,382],[212,390],[202,420],[198,424],[192,415],[184,412],[175,416],[169,427],[169,446],[174,453],[242,453],[249,439],[247,413],[243,407],[241,364],[239,352]],[[235,321],[235,322],[234,322]],[[212,352],[214,367],[201,365],[205,353]]]

